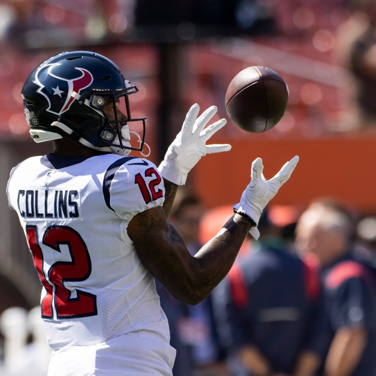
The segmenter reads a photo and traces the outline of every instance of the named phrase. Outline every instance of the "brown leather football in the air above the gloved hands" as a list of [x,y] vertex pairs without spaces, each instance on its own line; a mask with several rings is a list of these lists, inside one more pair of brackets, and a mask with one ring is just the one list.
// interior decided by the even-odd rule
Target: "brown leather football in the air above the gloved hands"
[[241,129],[265,132],[285,114],[288,93],[287,83],[274,70],[259,65],[248,67],[227,88],[226,112]]

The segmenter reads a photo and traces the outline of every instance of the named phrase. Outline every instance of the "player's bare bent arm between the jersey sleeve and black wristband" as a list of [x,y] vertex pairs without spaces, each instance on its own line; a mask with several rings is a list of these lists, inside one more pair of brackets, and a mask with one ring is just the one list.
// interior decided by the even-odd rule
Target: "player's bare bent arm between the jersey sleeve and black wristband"
[[146,268],[176,299],[197,304],[230,270],[251,222],[234,214],[220,232],[192,256],[161,207],[132,218],[128,235]]

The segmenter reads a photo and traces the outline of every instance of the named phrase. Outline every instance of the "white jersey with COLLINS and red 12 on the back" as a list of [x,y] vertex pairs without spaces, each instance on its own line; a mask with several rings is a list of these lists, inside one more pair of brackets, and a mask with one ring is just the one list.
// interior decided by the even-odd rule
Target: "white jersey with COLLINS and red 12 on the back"
[[161,344],[169,368],[167,318],[127,235],[135,214],[164,202],[156,166],[113,154],[36,156],[12,170],[7,193],[43,285],[41,315],[52,349],[117,337],[132,347],[132,338],[144,339]]

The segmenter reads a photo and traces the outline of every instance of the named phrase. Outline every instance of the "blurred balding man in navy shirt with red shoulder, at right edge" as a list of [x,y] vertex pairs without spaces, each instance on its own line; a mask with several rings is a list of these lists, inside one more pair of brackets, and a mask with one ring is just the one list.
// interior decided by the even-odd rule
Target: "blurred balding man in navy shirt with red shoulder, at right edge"
[[[313,202],[299,218],[296,246],[321,268],[325,376],[368,376],[376,370],[376,279],[352,252],[354,223],[335,202]],[[312,368],[311,373],[314,374]]]

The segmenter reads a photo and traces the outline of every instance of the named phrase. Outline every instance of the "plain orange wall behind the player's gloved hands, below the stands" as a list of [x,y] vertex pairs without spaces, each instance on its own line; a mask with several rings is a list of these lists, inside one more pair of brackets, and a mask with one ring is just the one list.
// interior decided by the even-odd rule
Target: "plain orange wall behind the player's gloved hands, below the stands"
[[[376,213],[376,133],[332,134],[320,139],[244,139],[216,137],[230,143],[227,153],[207,155],[194,167],[193,190],[208,208],[240,200],[249,182],[251,162],[261,157],[266,179],[294,155],[300,161],[290,180],[272,200],[305,206],[319,196],[332,196],[360,214]],[[188,177],[189,179],[189,177]]]

